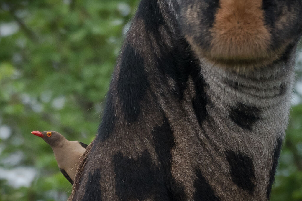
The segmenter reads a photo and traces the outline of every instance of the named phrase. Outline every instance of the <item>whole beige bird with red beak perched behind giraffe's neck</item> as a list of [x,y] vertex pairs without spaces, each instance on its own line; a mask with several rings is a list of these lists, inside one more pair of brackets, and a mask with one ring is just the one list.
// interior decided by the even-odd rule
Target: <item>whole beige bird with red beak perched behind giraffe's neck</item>
[[47,131],[32,131],[32,134],[41,137],[53,149],[56,162],[60,171],[66,179],[73,185],[76,176],[76,169],[81,155],[85,152],[88,146],[79,141],[69,141],[60,133]]

